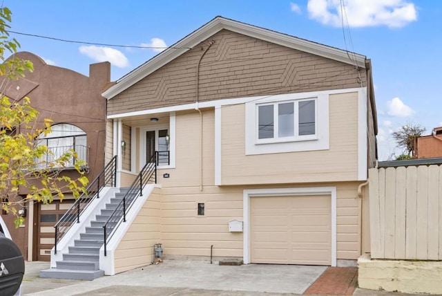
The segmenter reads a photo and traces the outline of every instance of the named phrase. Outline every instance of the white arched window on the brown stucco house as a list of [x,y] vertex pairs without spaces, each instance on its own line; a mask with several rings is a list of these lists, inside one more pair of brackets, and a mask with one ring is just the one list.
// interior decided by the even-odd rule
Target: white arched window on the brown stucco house
[[[86,142],[86,133],[73,124],[60,123],[52,125],[52,131],[48,134],[41,133],[38,137],[39,145],[46,145],[50,153],[40,159],[39,163],[46,163],[45,167],[50,163],[66,154],[67,151],[73,149],[77,152],[77,158],[88,161],[88,146]],[[65,167],[73,167],[75,165],[72,158]]]

